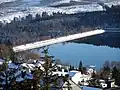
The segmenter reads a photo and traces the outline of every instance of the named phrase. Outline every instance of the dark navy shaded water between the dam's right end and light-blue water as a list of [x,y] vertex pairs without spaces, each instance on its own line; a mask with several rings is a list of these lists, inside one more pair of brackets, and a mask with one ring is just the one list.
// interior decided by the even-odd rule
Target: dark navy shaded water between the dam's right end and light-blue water
[[106,32],[104,34],[78,39],[73,42],[120,48],[120,33]]

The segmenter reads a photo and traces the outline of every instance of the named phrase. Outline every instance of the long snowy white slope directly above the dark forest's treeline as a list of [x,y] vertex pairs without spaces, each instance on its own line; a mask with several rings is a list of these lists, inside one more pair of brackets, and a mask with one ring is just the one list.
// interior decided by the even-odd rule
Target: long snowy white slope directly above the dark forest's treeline
[[[27,7],[24,8],[24,10],[21,10],[21,8],[16,8],[19,9],[18,12],[14,10],[12,12],[3,13],[3,15],[0,17],[1,22],[8,22],[10,23],[11,20],[14,19],[14,17],[25,17],[28,14],[32,14],[33,17],[36,14],[42,14],[42,12],[47,12],[49,15],[51,15],[53,12],[61,12],[61,13],[66,13],[66,14],[74,14],[78,12],[91,12],[91,11],[102,11],[103,8],[99,4],[90,4],[90,5],[74,5],[70,7],[61,7],[61,8],[54,8],[54,7]],[[4,12],[4,11],[3,11]]]

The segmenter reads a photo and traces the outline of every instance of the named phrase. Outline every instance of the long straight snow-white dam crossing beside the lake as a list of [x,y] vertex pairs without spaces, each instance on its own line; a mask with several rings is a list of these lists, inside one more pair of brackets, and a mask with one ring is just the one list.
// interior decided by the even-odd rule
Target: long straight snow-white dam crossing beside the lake
[[75,39],[88,37],[88,36],[102,34],[104,32],[105,32],[104,30],[99,29],[99,30],[93,30],[93,31],[88,31],[88,32],[53,38],[53,39],[44,40],[44,41],[37,41],[34,43],[15,46],[15,47],[13,47],[13,50],[14,50],[14,52],[21,52],[21,51],[25,51],[25,50],[40,48],[40,47],[49,46],[52,44],[57,44],[57,43],[62,43],[62,42],[66,42],[66,41],[71,41],[71,40],[75,40]]

